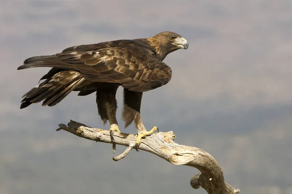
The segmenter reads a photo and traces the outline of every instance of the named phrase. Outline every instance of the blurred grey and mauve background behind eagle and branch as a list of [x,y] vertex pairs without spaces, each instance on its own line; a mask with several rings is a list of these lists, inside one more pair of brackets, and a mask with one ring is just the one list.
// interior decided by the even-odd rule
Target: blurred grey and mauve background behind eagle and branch
[[[108,129],[94,94],[19,109],[49,71],[17,71],[24,59],[162,31],[189,49],[169,54],[172,80],[144,94],[146,127],[212,154],[241,193],[292,194],[291,10],[291,0],[0,0],[0,194],[206,194],[190,186],[196,169],[143,151],[114,162],[110,144],[55,131],[70,119]],[[120,129],[136,133],[120,121],[122,88],[117,99]]]

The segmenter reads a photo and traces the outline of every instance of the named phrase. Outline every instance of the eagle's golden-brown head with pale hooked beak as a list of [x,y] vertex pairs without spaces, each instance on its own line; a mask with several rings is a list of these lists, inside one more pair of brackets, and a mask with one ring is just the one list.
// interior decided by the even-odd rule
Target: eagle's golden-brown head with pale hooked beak
[[150,45],[154,47],[156,52],[160,55],[160,60],[163,60],[165,56],[178,49],[187,49],[188,42],[181,35],[173,32],[162,32],[147,38]]

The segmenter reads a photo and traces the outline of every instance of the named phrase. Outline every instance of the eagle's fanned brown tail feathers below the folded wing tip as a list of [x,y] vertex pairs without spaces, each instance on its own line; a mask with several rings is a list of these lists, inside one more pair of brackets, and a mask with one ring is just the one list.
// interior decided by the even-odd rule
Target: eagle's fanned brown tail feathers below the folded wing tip
[[24,94],[20,108],[25,108],[43,100],[45,101],[42,106],[54,106],[63,100],[73,89],[77,88],[84,80],[78,72],[58,72]]

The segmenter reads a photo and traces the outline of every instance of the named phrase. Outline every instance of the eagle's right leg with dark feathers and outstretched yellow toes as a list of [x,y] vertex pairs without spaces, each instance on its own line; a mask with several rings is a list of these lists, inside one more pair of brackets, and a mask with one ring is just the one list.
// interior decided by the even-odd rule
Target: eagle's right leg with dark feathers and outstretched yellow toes
[[125,122],[125,127],[130,125],[133,121],[136,125],[138,137],[136,139],[135,148],[137,151],[139,151],[138,146],[141,144],[142,138],[152,135],[156,130],[158,131],[157,127],[153,127],[150,131],[147,131],[142,123],[140,115],[142,94],[143,92],[130,91],[124,88],[124,107],[122,119]]

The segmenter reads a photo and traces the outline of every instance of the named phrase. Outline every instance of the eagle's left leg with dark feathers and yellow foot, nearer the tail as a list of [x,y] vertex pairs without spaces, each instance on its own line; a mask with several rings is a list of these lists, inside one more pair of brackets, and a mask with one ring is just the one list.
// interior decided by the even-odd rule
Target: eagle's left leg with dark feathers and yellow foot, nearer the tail
[[106,87],[98,88],[96,90],[96,104],[98,114],[103,123],[110,122],[110,139],[114,142],[113,133],[119,130],[118,122],[116,119],[117,100],[115,98],[118,86],[106,84]]

